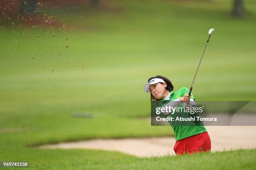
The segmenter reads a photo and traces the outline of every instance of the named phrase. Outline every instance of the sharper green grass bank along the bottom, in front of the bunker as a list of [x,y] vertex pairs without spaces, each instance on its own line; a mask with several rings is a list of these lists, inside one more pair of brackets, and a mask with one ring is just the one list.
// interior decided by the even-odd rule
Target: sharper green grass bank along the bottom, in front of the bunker
[[254,169],[256,150],[236,150],[215,153],[201,153],[182,156],[164,156],[155,158],[121,158],[100,161],[56,162],[31,165],[36,169],[77,169],[77,170],[131,170],[131,169],[199,169],[199,170],[230,170]]

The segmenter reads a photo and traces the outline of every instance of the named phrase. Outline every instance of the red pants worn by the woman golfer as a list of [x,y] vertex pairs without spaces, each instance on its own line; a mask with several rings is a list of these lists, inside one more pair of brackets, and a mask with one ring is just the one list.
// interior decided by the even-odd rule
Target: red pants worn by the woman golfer
[[189,136],[187,138],[177,140],[174,145],[176,155],[192,154],[197,152],[206,152],[211,150],[211,140],[207,132]]

